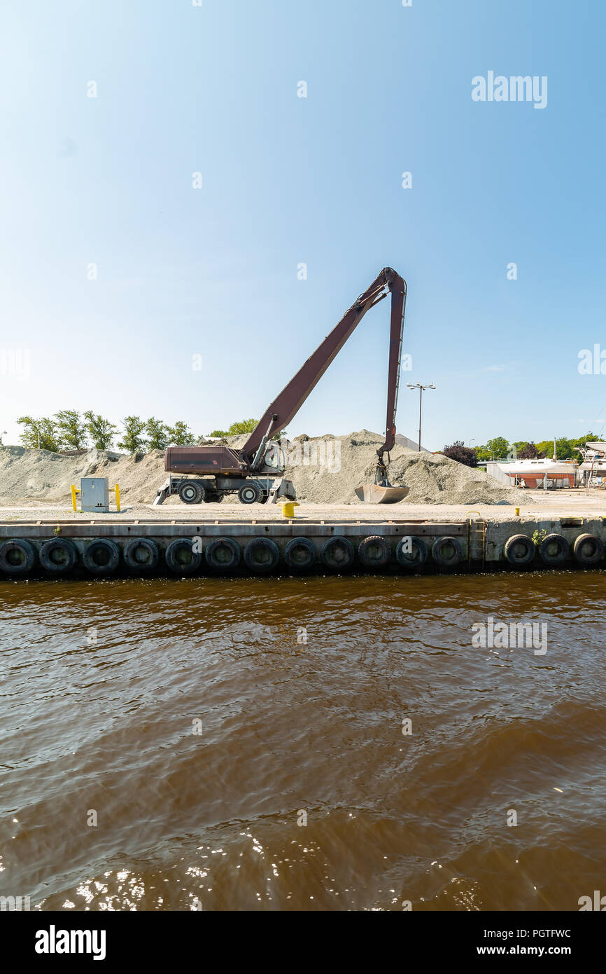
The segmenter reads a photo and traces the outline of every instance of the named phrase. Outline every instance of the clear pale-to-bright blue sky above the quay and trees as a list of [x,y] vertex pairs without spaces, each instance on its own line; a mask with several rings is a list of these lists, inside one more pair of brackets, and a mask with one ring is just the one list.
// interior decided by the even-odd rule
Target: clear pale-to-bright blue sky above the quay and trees
[[[5,0],[5,442],[61,408],[258,417],[385,265],[430,448],[599,431],[605,35],[602,0]],[[475,102],[489,70],[547,107]],[[384,429],[387,330],[385,302],[290,433]]]

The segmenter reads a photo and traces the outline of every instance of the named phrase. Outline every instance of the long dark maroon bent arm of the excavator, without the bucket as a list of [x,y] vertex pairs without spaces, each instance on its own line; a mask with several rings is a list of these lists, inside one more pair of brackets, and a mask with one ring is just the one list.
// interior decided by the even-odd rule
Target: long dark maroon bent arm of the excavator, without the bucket
[[267,439],[284,430],[301,409],[303,402],[318,384],[333,359],[360,323],[367,311],[391,293],[391,326],[389,332],[389,367],[387,375],[387,419],[385,423],[385,442],[378,447],[377,473],[386,479],[383,454],[389,453],[396,437],[396,407],[400,382],[400,358],[402,356],[402,335],[406,310],[406,281],[391,267],[385,267],[364,294],[345,312],[339,324],[333,328],[312,356],[299,369],[299,372],[270,402],[267,409],[242,447],[241,454],[251,468],[257,467],[262,459]]

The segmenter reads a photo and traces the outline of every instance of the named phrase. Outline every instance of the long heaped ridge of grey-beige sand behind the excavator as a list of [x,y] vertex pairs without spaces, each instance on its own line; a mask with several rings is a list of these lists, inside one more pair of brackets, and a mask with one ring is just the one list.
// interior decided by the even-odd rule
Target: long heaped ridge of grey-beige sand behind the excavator
[[[247,435],[230,436],[226,442],[240,447]],[[377,433],[361,430],[348,436],[304,434],[288,445],[286,476],[295,484],[300,501],[310,504],[359,504],[354,491],[374,480],[376,447],[383,442]],[[163,451],[125,456],[111,450],[61,456],[48,450],[22,446],[0,448],[0,505],[67,503],[70,485],[80,477],[109,477],[120,484],[122,498],[130,504],[151,504],[163,483]],[[402,446],[391,452],[389,471],[393,484],[405,484],[410,494],[402,504],[512,504],[529,503],[527,492],[503,487],[494,477],[448,460],[441,454],[416,453]],[[237,504],[229,497],[226,503]]]

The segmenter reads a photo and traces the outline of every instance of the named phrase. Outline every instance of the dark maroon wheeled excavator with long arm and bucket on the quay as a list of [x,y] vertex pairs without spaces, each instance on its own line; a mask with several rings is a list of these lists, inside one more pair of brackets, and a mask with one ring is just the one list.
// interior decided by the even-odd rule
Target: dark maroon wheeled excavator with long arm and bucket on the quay
[[[169,473],[160,487],[154,505],[171,494],[184,504],[217,503],[226,494],[237,493],[242,504],[259,504],[278,498],[295,500],[292,481],[282,474],[286,466],[284,451],[276,448],[277,434],[284,430],[301,409],[303,402],[320,381],[333,359],[367,311],[391,294],[389,366],[387,375],[387,420],[385,441],[378,447],[374,483],[357,488],[360,501],[390,504],[401,501],[408,488],[389,483],[389,452],[396,437],[396,406],[400,382],[400,359],[406,310],[407,284],[391,267],[385,267],[368,290],[359,296],[339,324],[309,356],[282,392],[269,403],[244,445],[169,446],[164,469]],[[385,459],[386,455],[386,459]]]

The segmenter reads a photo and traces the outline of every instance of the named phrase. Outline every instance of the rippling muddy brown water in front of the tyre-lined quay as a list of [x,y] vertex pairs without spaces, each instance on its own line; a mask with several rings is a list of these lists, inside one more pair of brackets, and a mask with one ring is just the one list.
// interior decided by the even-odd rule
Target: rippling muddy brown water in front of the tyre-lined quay
[[[602,572],[3,582],[0,895],[578,910],[606,893],[605,591]],[[472,645],[488,618],[547,623],[547,652]]]

